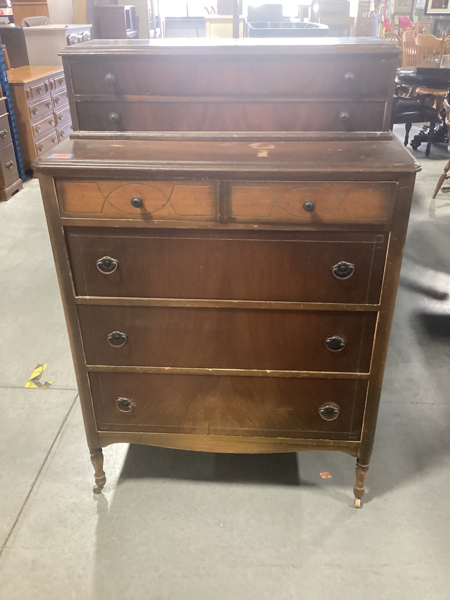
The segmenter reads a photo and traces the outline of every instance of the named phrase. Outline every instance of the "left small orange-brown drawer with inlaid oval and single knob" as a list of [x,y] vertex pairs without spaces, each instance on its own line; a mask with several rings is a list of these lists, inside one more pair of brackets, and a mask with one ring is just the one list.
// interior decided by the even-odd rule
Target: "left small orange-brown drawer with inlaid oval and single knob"
[[67,217],[218,220],[217,182],[64,181],[58,197]]

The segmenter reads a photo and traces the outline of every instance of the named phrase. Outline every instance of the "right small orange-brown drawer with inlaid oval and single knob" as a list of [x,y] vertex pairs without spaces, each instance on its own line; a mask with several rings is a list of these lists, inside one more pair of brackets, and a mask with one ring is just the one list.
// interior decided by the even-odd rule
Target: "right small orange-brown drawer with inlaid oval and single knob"
[[395,182],[230,182],[228,218],[250,223],[391,223]]

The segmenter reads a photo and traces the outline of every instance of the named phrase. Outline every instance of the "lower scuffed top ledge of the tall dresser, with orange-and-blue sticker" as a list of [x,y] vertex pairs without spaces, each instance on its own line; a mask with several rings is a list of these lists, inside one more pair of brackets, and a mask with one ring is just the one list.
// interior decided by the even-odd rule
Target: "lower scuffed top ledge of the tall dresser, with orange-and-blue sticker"
[[[178,170],[180,172],[369,173],[420,170],[391,140],[248,142],[67,139],[35,162],[38,170]],[[100,175],[101,176],[101,175]]]

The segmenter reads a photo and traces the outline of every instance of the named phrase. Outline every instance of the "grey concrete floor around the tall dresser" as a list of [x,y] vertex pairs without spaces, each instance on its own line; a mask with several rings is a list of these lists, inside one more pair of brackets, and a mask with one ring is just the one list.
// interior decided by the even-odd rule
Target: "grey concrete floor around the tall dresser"
[[[450,194],[431,200],[448,153],[415,155],[423,170],[359,511],[355,460],[333,452],[109,446],[93,497],[37,181],[0,205],[1,600],[450,598]],[[25,389],[38,362],[53,385]]]

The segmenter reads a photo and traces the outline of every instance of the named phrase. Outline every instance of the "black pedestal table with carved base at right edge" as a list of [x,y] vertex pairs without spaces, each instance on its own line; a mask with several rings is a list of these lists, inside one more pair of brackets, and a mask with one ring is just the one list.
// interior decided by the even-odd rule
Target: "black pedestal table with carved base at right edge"
[[[448,60],[445,60],[448,59]],[[412,86],[414,88],[446,89],[445,98],[450,100],[450,56],[445,56],[442,67],[438,64],[427,62],[416,69],[404,69],[397,73],[396,83]],[[417,150],[421,143],[427,143],[430,126],[424,125],[419,133],[410,142],[413,150]],[[445,109],[440,112],[440,121],[434,127],[433,143],[449,143],[448,130],[445,124]]]

